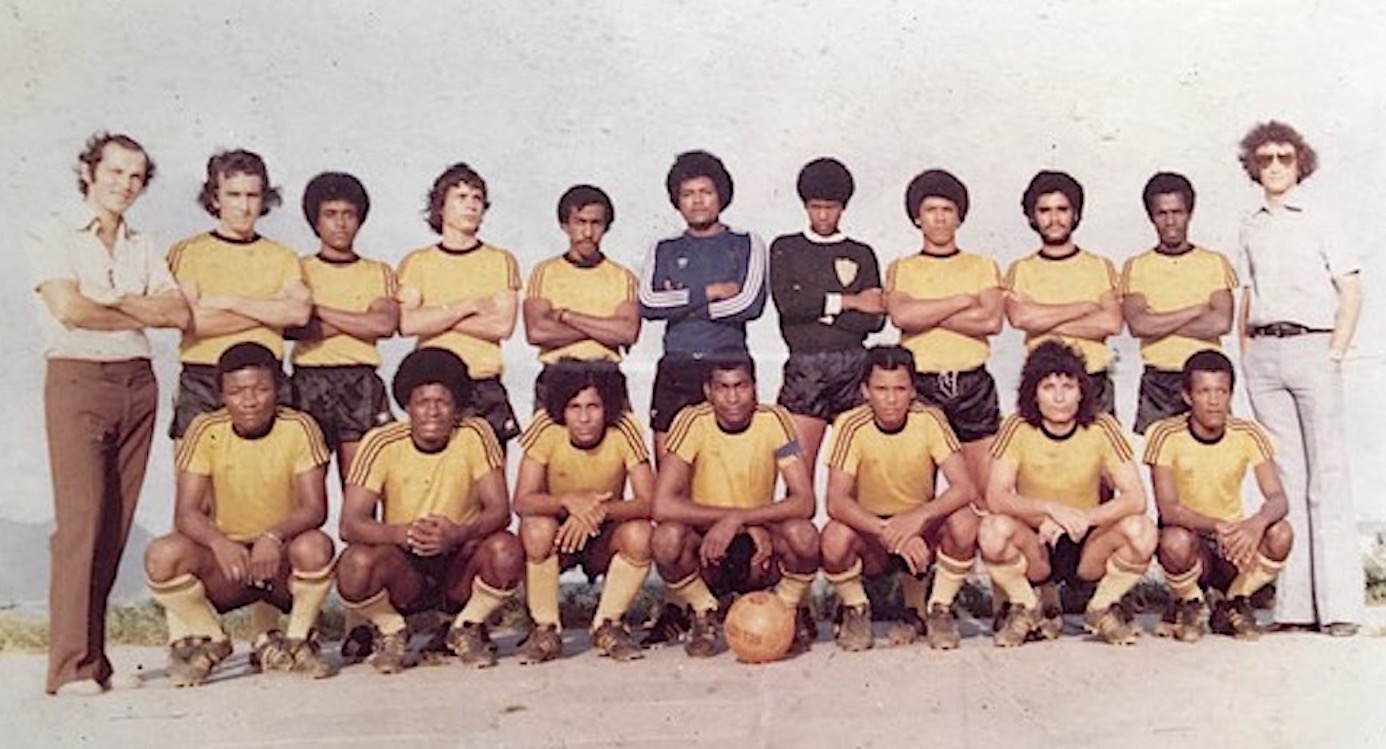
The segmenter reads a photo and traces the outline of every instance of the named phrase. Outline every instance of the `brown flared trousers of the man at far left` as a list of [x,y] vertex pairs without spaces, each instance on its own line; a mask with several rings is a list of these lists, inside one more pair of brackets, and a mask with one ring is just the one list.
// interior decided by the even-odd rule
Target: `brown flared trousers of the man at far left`
[[107,682],[105,608],[144,484],[158,383],[148,359],[49,359],[43,384],[55,527],[47,691]]

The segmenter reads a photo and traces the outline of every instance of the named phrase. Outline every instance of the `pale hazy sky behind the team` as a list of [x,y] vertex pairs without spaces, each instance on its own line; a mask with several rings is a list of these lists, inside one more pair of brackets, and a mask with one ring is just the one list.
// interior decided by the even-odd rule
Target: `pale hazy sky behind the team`
[[[1231,255],[1258,194],[1236,141],[1258,121],[1283,119],[1318,150],[1321,171],[1306,187],[1340,212],[1365,262],[1368,307],[1344,372],[1358,515],[1383,522],[1386,498],[1372,490],[1386,467],[1369,447],[1386,416],[1386,283],[1375,252],[1386,236],[1383,39],[1386,15],[1364,0],[0,1],[0,236],[14,264],[0,275],[0,312],[12,320],[0,332],[0,383],[18,394],[0,404],[0,469],[11,484],[0,527],[32,531],[22,548],[0,544],[21,565],[0,577],[0,603],[42,598],[32,583],[46,577],[47,555],[33,538],[51,522],[24,254],[32,232],[78,200],[72,164],[101,129],[152,153],[158,176],[129,218],[161,246],[212,226],[195,203],[205,161],[247,147],[286,198],[261,222],[263,234],[313,251],[302,187],[320,171],[349,171],[371,194],[359,248],[398,262],[435,240],[421,216],[434,176],[467,161],[491,189],[482,237],[511,250],[527,275],[564,250],[554,204],[579,182],[613,196],[618,221],[604,250],[638,270],[654,240],[681,229],[664,175],[689,148],[722,157],[736,180],[725,221],[766,241],[804,227],[800,166],[840,158],[857,179],[844,229],[875,246],[883,268],[918,250],[902,194],[936,166],[970,190],[962,247],[1002,266],[1037,247],[1019,198],[1046,168],[1087,190],[1076,234],[1084,248],[1117,264],[1149,248],[1141,187],[1171,169],[1198,190],[1193,240]],[[626,365],[638,409],[661,333],[647,325]],[[172,517],[162,429],[176,338],[152,337],[161,431],[137,523],[157,535]],[[784,358],[773,312],[751,325],[750,341],[761,395],[772,399]],[[1139,358],[1128,336],[1114,343],[1130,423]],[[409,347],[384,345],[387,376]],[[523,330],[505,355],[527,416],[536,365]],[[991,366],[1003,408],[1020,356],[1015,332],[998,336]],[[1245,401],[1240,409],[1249,413]],[[137,573],[126,569],[121,585],[136,591]]]

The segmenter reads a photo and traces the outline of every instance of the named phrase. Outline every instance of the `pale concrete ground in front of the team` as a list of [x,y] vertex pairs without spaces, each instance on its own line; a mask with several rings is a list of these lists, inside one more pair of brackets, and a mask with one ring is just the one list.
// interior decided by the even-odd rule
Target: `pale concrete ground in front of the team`
[[[1379,617],[1378,617],[1379,619]],[[141,689],[43,695],[42,655],[0,656],[0,743],[21,746],[894,748],[1386,746],[1386,637],[1268,634],[1117,648],[1069,617],[1066,637],[1002,651],[976,623],[963,646],[812,652],[768,666],[682,648],[613,663],[568,630],[567,657],[452,662],[392,677],[249,674],[247,646],[200,688],[164,677],[164,652],[119,648]],[[1149,627],[1150,620],[1145,624]],[[826,627],[825,627],[826,630]],[[1374,632],[1379,632],[1376,627]],[[881,624],[877,624],[877,634]],[[416,641],[417,645],[419,641]]]

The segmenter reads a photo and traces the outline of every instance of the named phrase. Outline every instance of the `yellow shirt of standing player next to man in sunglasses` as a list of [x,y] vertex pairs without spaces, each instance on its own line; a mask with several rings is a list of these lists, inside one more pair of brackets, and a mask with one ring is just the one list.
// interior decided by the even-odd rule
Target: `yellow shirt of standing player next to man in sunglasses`
[[[1156,313],[1203,304],[1214,291],[1236,287],[1232,264],[1221,252],[1202,247],[1191,247],[1181,255],[1146,250],[1121,268],[1121,295],[1141,294],[1150,312]],[[1221,351],[1222,344],[1217,338],[1178,334],[1141,338],[1141,359],[1166,372],[1182,370],[1189,356],[1207,350]]]

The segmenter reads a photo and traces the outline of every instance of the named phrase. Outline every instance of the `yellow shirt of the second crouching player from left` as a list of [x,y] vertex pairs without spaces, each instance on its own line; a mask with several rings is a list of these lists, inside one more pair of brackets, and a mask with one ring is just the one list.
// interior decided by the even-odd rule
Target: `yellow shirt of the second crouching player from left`
[[414,447],[409,423],[396,422],[366,433],[346,483],[378,494],[388,524],[430,515],[464,524],[481,515],[475,483],[496,469],[505,455],[484,419],[463,419],[438,452]]

